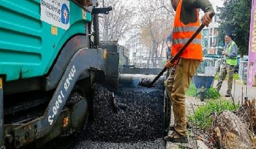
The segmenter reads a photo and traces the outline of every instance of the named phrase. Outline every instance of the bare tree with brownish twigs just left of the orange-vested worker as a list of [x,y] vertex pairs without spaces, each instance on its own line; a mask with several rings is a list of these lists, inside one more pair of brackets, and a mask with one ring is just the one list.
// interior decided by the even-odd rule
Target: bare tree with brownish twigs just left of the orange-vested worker
[[156,61],[162,58],[166,37],[172,30],[174,12],[170,0],[140,0],[140,3],[143,4],[140,11],[142,44],[146,47],[151,45],[149,57],[155,67]]

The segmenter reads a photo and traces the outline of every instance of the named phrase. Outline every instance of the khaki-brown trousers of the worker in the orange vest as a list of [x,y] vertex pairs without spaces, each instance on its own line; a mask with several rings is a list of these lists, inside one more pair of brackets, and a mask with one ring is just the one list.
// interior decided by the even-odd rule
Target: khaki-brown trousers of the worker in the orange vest
[[172,73],[166,82],[167,93],[172,97],[172,106],[174,113],[174,129],[181,135],[186,134],[186,106],[185,92],[190,85],[192,76],[196,73],[199,65],[198,60],[180,59],[175,68],[174,82],[172,85]]

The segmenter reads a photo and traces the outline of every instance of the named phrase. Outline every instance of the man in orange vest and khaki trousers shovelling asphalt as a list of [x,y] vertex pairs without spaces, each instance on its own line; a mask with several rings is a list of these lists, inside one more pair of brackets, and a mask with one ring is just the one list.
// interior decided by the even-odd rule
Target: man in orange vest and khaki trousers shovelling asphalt
[[[196,32],[200,26],[198,8],[201,8],[205,15],[202,23],[208,27],[211,22],[210,14],[214,13],[209,0],[171,0],[173,9],[176,11],[172,36],[172,56],[175,56],[186,41]],[[172,98],[174,113],[174,126],[172,135],[164,137],[166,141],[175,143],[188,143],[186,133],[186,109],[185,92],[190,85],[192,76],[196,73],[199,63],[203,60],[201,47],[201,34],[188,45],[179,60],[170,63],[166,62],[169,69],[175,67],[174,77],[171,74],[166,82],[167,93]],[[173,81],[174,79],[174,81]]]

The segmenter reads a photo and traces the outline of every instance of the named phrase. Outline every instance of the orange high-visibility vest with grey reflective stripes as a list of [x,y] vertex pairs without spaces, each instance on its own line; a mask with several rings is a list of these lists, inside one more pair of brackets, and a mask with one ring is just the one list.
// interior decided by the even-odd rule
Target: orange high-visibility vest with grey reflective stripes
[[[172,35],[172,56],[175,56],[177,52],[185,45],[186,41],[196,32],[199,28],[199,14],[196,10],[197,21],[195,23],[188,23],[185,25],[181,21],[181,6],[183,0],[179,1],[176,9],[176,14],[174,18],[173,25],[173,35]],[[203,60],[203,51],[201,46],[201,34],[198,34],[196,38],[186,47],[185,51],[181,54],[181,58],[188,58],[193,60]],[[177,62],[177,61],[176,61]]]

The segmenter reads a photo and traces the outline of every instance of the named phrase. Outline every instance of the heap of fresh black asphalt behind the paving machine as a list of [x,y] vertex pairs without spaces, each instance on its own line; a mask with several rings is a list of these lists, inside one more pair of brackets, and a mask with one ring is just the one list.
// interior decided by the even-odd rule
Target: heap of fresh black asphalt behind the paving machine
[[[99,148],[105,148],[99,146],[103,143],[119,144],[118,148],[122,148],[121,144],[123,148],[133,144],[138,148],[161,148],[163,96],[159,89],[121,89],[113,93],[109,87],[95,84],[94,120],[84,127],[80,142],[74,148],[92,142],[97,142]],[[120,105],[125,108],[119,108]]]

